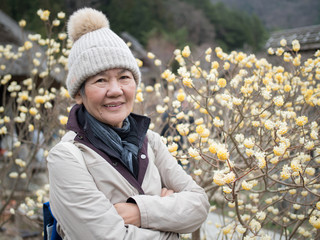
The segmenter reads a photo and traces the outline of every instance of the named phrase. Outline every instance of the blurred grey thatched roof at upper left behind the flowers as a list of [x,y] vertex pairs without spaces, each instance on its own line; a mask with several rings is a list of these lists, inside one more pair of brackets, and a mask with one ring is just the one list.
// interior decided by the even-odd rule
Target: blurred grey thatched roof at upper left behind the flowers
[[[6,15],[0,10],[0,45],[5,47],[11,45],[11,51],[14,53],[18,52],[18,48],[23,46],[24,42],[28,40],[27,32],[23,31],[17,22]],[[33,43],[32,49],[24,52],[23,55],[17,60],[8,60],[4,56],[0,57],[0,65],[6,65],[5,70],[0,70],[0,75],[8,74],[15,76],[29,76],[30,70],[33,68],[32,59],[35,57],[36,52],[40,52],[42,56],[45,56],[45,49],[35,42]],[[65,78],[65,71],[62,66],[60,73],[51,73],[51,77],[56,79],[58,82],[63,82]],[[39,66],[39,71],[46,69],[46,60]]]

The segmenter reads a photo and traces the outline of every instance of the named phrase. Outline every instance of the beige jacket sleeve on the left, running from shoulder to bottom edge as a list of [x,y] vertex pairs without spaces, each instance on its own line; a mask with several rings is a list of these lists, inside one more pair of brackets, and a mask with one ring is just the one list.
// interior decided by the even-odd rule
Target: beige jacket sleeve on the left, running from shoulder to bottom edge
[[178,239],[174,233],[125,225],[63,142],[50,151],[47,165],[50,205],[63,239]]

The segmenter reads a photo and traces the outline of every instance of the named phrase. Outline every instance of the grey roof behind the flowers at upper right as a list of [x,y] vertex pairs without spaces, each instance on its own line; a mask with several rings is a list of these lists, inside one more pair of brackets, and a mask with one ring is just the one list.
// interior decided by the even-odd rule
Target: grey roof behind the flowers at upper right
[[286,39],[288,44],[297,39],[300,42],[301,51],[320,49],[320,25],[274,32],[268,39],[266,48],[280,47],[281,39]]

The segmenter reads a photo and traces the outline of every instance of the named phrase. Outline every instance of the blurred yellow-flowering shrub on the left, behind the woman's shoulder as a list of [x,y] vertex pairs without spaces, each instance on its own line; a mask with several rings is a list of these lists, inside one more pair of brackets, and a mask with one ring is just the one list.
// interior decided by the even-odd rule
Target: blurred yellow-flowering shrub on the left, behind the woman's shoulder
[[[24,33],[27,23],[21,20],[22,46],[0,46],[0,216],[23,213],[32,217],[38,210],[42,212],[46,194],[40,190],[32,193],[33,179],[46,169],[48,150],[64,134],[70,105],[67,90],[55,81],[59,75],[64,79],[71,46],[65,33],[55,33],[64,13],[52,22],[49,11],[39,10],[38,15],[46,24],[47,38]],[[14,67],[25,60],[30,71],[21,79],[15,76]],[[20,206],[21,193],[25,192],[26,202]],[[1,217],[0,227],[9,219]]]

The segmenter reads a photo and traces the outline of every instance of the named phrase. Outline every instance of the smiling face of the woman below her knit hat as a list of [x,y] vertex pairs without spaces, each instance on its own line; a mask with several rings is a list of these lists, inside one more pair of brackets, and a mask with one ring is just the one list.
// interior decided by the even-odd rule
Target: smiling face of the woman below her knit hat
[[77,94],[78,104],[100,122],[121,128],[133,108],[136,81],[129,70],[110,69],[88,78],[84,93]]

